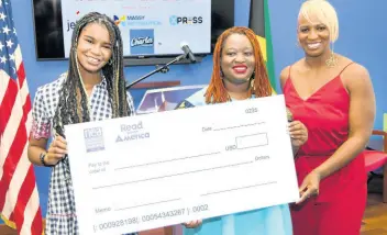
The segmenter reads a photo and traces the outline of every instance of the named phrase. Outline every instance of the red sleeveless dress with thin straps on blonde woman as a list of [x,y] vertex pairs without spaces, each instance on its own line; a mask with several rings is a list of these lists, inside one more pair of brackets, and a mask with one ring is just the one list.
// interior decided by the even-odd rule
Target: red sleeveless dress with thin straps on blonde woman
[[[284,85],[286,105],[294,120],[301,121],[308,128],[308,141],[296,158],[298,182],[301,184],[311,170],[347,139],[350,94],[340,72],[303,100],[292,85],[290,69]],[[361,154],[347,166],[321,180],[318,197],[290,206],[295,235],[358,235],[366,206],[366,186],[364,156]]]

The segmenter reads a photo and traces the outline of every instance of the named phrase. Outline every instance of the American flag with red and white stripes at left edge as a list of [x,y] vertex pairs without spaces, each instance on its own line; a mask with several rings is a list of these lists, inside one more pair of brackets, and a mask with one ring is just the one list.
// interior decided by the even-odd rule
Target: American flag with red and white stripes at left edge
[[0,212],[19,234],[42,235],[34,168],[27,157],[32,114],[10,0],[0,0]]

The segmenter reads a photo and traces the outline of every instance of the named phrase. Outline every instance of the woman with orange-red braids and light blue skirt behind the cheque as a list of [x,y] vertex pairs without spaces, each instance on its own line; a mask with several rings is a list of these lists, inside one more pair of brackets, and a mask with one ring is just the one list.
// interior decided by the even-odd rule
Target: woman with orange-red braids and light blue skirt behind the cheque
[[[178,109],[272,96],[258,41],[247,27],[231,27],[218,38],[210,85],[180,103]],[[226,119],[226,116],[224,116]],[[289,125],[297,150],[308,138],[299,121]],[[185,235],[290,235],[287,204],[186,223]]]

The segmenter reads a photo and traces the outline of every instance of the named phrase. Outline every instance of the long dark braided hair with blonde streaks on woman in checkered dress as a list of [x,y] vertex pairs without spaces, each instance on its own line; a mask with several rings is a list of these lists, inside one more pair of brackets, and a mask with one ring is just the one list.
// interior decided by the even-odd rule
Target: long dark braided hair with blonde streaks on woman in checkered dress
[[65,136],[64,125],[90,121],[88,98],[79,72],[77,57],[79,35],[89,23],[104,25],[110,35],[112,55],[109,63],[103,66],[102,74],[107,81],[112,118],[128,116],[131,113],[126,102],[120,29],[106,14],[90,12],[77,21],[71,36],[68,74],[59,91],[59,102],[53,121],[54,130],[62,136]]

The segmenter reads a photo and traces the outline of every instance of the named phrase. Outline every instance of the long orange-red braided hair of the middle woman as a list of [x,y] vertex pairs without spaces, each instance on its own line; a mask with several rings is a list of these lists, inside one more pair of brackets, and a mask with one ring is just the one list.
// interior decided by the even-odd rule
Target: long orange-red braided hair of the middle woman
[[256,38],[255,33],[248,27],[234,26],[224,31],[219,37],[213,51],[213,69],[210,85],[206,91],[206,103],[220,103],[230,100],[228,91],[223,85],[221,76],[221,56],[225,40],[232,34],[243,34],[247,36],[248,41],[253,45],[255,68],[251,79],[252,86],[248,88],[250,97],[268,97],[272,94],[272,87],[268,80],[265,61],[262,56],[259,43]]

